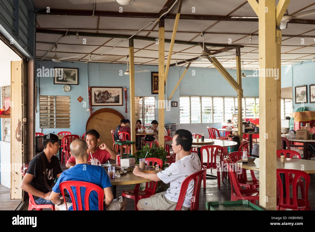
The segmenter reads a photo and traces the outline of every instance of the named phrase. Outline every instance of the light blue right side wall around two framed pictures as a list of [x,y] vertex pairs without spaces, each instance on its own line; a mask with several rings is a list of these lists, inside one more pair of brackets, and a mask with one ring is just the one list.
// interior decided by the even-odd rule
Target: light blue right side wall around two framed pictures
[[[309,85],[315,84],[315,62],[303,62],[302,64],[298,63],[292,66],[292,89],[293,96],[295,96],[295,86],[307,85],[307,103],[306,110],[313,111],[315,110],[315,104],[310,103],[309,98]],[[295,99],[293,99],[293,111],[296,111],[301,104],[295,104]]]

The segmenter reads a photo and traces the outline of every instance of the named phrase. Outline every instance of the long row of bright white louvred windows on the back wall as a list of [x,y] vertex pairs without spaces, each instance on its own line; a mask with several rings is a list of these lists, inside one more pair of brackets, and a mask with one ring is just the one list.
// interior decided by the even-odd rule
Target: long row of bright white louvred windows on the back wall
[[[292,99],[281,99],[281,118],[292,113]],[[180,97],[180,123],[215,123],[238,113],[234,97]],[[259,118],[259,98],[242,98],[243,118]]]

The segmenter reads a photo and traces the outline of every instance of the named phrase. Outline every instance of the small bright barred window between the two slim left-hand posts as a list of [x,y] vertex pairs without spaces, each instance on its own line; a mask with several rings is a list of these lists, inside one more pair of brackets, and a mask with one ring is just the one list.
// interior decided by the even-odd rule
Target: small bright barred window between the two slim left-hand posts
[[142,125],[150,125],[155,119],[155,97],[135,97],[135,123],[138,119]]

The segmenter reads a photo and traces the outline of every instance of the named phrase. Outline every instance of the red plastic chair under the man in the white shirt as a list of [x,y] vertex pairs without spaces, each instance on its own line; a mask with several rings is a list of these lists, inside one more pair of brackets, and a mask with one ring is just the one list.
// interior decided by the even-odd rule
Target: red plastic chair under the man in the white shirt
[[178,201],[176,204],[175,210],[181,210],[181,207],[183,206],[183,202],[186,197],[187,188],[190,184],[190,181],[194,181],[194,188],[192,192],[192,205],[190,207],[190,210],[198,210],[199,209],[199,192],[200,192],[200,186],[201,186],[201,180],[206,175],[206,169],[203,169],[201,171],[198,171],[192,175],[189,175],[186,177],[186,179],[182,182],[180,187],[180,193],[178,196]]

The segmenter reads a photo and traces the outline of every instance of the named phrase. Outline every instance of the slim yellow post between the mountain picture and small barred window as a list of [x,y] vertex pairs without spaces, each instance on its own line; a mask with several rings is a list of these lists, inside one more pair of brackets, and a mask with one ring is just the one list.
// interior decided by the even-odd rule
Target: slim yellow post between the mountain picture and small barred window
[[[134,39],[129,39],[129,85],[130,85],[130,140],[136,141],[135,135],[135,63],[134,63]],[[131,154],[135,154],[136,145],[131,145]]]

